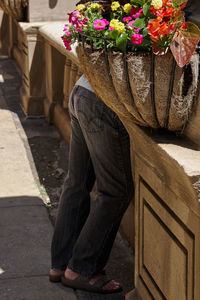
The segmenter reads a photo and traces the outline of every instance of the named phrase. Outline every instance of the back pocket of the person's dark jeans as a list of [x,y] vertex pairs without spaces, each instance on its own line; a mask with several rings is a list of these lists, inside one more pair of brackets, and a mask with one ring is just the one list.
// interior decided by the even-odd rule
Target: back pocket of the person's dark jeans
[[76,117],[85,131],[95,133],[104,128],[104,103],[89,90],[80,87],[74,98]]

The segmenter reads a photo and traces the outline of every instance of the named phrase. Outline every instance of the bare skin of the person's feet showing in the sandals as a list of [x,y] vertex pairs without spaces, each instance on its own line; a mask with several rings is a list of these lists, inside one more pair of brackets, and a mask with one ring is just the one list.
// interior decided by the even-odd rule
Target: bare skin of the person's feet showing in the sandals
[[[65,271],[65,277],[71,280],[76,279],[80,274],[73,272],[70,269],[66,269]],[[104,275],[103,274],[98,274],[95,275],[94,277],[91,278],[91,280],[89,281],[89,284],[93,285],[95,284],[96,281],[98,281],[99,279],[101,279]],[[107,291],[107,290],[117,290],[120,288],[120,283],[116,282],[115,280],[111,280],[109,281],[102,289]]]

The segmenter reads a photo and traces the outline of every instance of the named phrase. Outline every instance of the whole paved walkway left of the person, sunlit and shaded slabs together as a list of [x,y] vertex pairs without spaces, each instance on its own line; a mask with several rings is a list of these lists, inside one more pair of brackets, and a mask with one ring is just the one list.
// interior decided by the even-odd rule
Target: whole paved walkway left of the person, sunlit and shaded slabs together
[[0,299],[76,300],[48,281],[53,227],[26,135],[0,92]]

